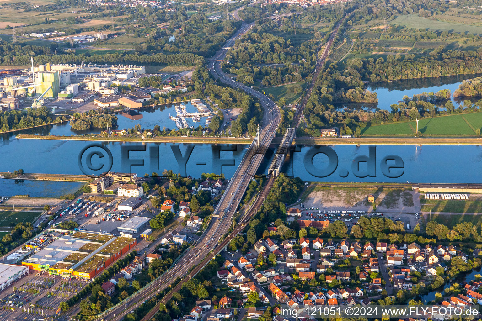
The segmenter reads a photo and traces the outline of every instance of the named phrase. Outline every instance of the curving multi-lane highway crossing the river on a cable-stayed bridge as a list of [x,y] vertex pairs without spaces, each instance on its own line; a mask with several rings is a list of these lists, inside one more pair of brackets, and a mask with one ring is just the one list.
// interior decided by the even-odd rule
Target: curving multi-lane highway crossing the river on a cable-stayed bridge
[[[290,13],[290,15],[291,14],[292,13]],[[277,16],[272,16],[269,18],[276,17]],[[241,35],[247,32],[252,26],[253,24],[243,23],[236,35],[228,39],[224,47],[229,47],[230,45],[234,44],[236,39],[239,39]],[[246,154],[244,154],[241,164],[239,164],[232,179],[229,181],[228,186],[225,189],[225,193],[222,195],[221,200],[214,210],[210,225],[202,233],[196,244],[190,248],[183,257],[181,257],[181,259],[171,270],[165,272],[161,279],[153,282],[145,291],[126,301],[124,306],[120,306],[107,312],[99,319],[102,318],[106,321],[122,320],[125,314],[130,313],[135,308],[138,308],[145,300],[150,299],[157,293],[166,289],[168,285],[173,283],[176,278],[186,276],[188,270],[190,270],[193,266],[198,265],[204,258],[207,258],[203,264],[198,265],[195,270],[189,274],[189,276],[183,279],[182,282],[186,282],[191,276],[194,276],[203,268],[205,264],[209,262],[209,259],[221,252],[222,249],[228,244],[230,239],[243,229],[244,223],[246,223],[249,218],[257,212],[257,209],[261,206],[264,198],[271,189],[271,186],[274,182],[273,178],[270,178],[265,182],[265,186],[260,195],[258,195],[254,205],[251,206],[250,210],[244,214],[235,230],[231,232],[229,237],[224,239],[221,244],[218,244],[221,236],[228,232],[232,223],[232,218],[238,212],[238,206],[241,198],[264,158],[262,153],[269,147],[269,144],[275,137],[276,128],[278,128],[280,123],[280,112],[275,103],[273,103],[268,97],[261,94],[259,91],[244,86],[237,81],[232,81],[232,79],[223,73],[219,60],[224,58],[226,52],[227,50],[221,49],[215,53],[214,57],[209,63],[209,70],[214,77],[224,81],[226,84],[231,85],[233,88],[239,88],[250,93],[259,100],[264,109],[263,121],[259,127],[259,140],[254,140],[248,148]],[[213,253],[210,254],[211,251],[213,251]],[[182,282],[174,287],[174,289],[180,289]],[[167,302],[171,298],[171,294],[172,292],[170,292],[169,295],[166,295],[163,298],[163,301]],[[160,303],[161,302],[159,302],[155,308],[152,308],[152,310],[142,320],[147,321],[152,318],[152,316],[159,311]]]

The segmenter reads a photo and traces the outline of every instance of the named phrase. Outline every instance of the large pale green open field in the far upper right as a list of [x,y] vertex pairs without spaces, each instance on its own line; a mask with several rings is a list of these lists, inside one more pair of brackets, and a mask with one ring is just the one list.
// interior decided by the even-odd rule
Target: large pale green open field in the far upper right
[[482,25],[472,26],[463,23],[439,21],[433,17],[419,17],[416,13],[400,15],[392,21],[392,24],[407,28],[428,28],[431,31],[455,31],[462,34],[468,31],[470,34],[482,34]]

